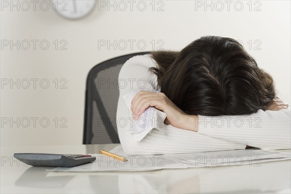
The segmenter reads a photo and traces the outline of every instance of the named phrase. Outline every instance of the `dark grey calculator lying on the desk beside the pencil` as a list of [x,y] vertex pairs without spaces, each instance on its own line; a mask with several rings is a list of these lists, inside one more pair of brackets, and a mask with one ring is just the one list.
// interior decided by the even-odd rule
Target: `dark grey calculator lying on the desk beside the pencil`
[[14,158],[32,166],[73,167],[96,160],[95,156],[82,154],[15,153]]

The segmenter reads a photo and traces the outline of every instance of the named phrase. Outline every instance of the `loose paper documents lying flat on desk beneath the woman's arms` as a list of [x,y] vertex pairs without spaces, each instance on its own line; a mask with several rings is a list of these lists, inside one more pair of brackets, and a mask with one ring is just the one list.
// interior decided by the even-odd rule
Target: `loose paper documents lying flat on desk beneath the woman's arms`
[[96,161],[71,168],[57,167],[48,171],[122,172],[231,165],[260,166],[262,162],[291,159],[291,153],[288,152],[268,151],[257,148],[187,154],[128,156],[119,145],[110,152],[125,156],[128,161],[123,162],[105,155],[91,154],[96,156]]

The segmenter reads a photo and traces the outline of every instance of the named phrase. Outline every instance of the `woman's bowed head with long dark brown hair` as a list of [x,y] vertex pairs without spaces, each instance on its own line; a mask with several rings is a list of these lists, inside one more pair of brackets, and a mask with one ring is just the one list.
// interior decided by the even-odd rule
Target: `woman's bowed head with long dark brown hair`
[[161,92],[185,113],[250,114],[275,97],[272,77],[234,39],[204,36],[180,52],[152,56]]

